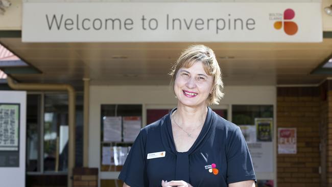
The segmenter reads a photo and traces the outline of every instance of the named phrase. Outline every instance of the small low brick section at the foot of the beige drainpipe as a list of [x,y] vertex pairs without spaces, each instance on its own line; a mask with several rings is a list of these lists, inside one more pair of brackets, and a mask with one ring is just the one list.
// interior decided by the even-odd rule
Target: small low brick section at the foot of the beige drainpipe
[[74,168],[74,187],[97,187],[98,168]]

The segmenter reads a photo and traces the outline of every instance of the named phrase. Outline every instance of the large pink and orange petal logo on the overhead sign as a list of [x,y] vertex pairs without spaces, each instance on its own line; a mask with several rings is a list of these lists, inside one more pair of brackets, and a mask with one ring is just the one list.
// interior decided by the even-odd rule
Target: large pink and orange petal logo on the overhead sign
[[279,30],[282,28],[283,24],[283,31],[288,35],[294,35],[297,33],[297,24],[292,20],[295,17],[295,12],[292,9],[286,9],[283,12],[283,20],[274,22],[274,28]]

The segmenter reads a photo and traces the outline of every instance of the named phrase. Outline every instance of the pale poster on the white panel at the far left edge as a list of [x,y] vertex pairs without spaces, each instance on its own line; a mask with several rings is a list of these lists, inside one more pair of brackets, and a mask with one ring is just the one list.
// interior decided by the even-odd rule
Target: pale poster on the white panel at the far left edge
[[19,104],[0,103],[0,151],[18,151]]

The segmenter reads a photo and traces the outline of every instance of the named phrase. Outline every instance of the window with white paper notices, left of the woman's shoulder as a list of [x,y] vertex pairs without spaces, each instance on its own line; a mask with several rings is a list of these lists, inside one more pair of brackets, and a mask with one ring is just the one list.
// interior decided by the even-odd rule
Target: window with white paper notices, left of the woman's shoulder
[[121,171],[141,128],[142,105],[101,105],[101,171]]

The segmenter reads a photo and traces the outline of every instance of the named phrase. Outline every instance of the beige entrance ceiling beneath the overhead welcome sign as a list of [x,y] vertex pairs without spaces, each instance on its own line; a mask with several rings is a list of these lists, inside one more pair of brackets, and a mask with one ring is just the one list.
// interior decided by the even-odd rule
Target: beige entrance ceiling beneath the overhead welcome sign
[[[193,43],[22,43],[0,42],[42,74],[13,74],[21,82],[83,85],[167,85],[169,69],[181,50]],[[311,75],[332,52],[332,38],[322,43],[202,43],[212,48],[225,85],[319,84]]]

